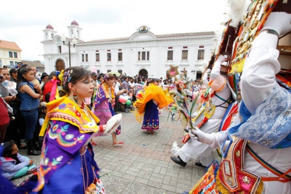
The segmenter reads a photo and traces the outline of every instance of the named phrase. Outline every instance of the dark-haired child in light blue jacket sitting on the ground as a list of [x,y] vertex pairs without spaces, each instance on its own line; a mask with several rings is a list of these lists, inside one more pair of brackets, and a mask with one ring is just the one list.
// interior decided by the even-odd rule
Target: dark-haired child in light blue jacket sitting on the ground
[[0,161],[2,162],[3,177],[12,179],[36,171],[37,167],[33,161],[26,156],[21,156],[15,143],[5,142],[1,146],[3,147],[3,157],[0,157]]

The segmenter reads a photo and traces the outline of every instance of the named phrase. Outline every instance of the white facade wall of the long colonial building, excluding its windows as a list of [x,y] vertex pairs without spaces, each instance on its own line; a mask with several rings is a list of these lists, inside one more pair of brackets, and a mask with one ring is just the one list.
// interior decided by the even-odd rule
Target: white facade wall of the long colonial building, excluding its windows
[[[204,46],[204,60],[210,60],[211,49],[215,46],[215,42],[211,41],[213,37],[214,34],[156,38],[150,32],[132,35],[132,40],[78,43],[76,48],[71,48],[71,66],[87,65],[88,69],[96,67],[103,73],[108,69],[112,71],[122,69],[130,76],[138,74],[140,69],[145,68],[149,77],[164,78],[170,65],[178,65],[179,72],[185,67],[189,77],[195,78],[196,74],[192,74],[191,71],[197,71],[202,61],[197,60],[199,46]],[[68,67],[68,47],[54,41],[45,41],[43,44],[47,72],[55,70],[54,65],[58,58],[62,58]],[[62,46],[62,53],[57,53],[57,46]],[[181,60],[183,46],[188,47],[187,61]],[[173,61],[167,61],[168,47],[173,47]],[[118,49],[122,49],[122,62],[118,62]],[[100,62],[96,62],[96,50],[99,50]],[[111,50],[111,62],[107,62],[107,50]],[[142,50],[150,51],[149,61],[138,61],[138,51]],[[88,54],[88,62],[81,62],[81,54]],[[51,61],[47,59],[48,57]]]

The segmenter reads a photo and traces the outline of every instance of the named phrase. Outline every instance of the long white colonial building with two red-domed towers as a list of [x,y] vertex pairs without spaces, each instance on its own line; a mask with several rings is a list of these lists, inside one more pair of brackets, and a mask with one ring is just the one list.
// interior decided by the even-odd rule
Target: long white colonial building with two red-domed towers
[[[193,32],[156,35],[147,26],[141,26],[130,37],[82,41],[82,29],[74,20],[68,28],[67,41],[75,37],[77,44],[71,48],[71,66],[82,66],[107,73],[116,71],[149,78],[166,77],[170,65],[182,71],[185,67],[192,79],[201,77],[201,61],[210,60],[215,47],[214,32]],[[44,58],[46,71],[69,67],[68,47],[61,41],[53,27],[44,32]]]

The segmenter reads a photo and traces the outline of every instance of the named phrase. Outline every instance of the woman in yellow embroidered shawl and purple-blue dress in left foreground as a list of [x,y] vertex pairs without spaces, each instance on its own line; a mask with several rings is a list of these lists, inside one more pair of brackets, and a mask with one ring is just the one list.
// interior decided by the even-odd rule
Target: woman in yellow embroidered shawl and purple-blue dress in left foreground
[[67,95],[47,103],[48,113],[40,133],[41,136],[46,131],[42,160],[32,193],[84,194],[95,191],[105,194],[89,142],[94,132],[101,135],[116,128],[115,124],[120,125],[121,117],[113,116],[107,124],[97,126],[99,119],[83,102],[94,91],[90,75],[91,72],[82,67],[67,68],[62,81]]

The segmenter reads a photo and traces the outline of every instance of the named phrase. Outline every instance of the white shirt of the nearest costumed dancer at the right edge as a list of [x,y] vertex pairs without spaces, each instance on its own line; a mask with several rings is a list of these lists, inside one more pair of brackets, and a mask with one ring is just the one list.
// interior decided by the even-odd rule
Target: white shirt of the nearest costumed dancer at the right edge
[[[250,54],[245,61],[240,88],[242,99],[250,113],[254,113],[275,88],[275,74],[280,70],[280,64],[277,61],[279,51],[275,49],[277,41],[276,35],[259,34],[254,40]],[[210,146],[221,146],[220,143],[226,132],[212,134],[214,135],[214,141]],[[270,149],[254,143],[248,143],[248,145],[259,157],[279,171],[285,173],[291,168],[291,147]],[[245,151],[244,162],[245,170],[251,173],[265,178],[277,177],[259,164],[247,151]],[[288,175],[291,176],[291,173]],[[264,181],[263,184],[263,194],[291,194],[290,181],[286,183]]]

